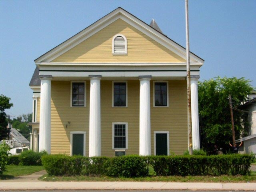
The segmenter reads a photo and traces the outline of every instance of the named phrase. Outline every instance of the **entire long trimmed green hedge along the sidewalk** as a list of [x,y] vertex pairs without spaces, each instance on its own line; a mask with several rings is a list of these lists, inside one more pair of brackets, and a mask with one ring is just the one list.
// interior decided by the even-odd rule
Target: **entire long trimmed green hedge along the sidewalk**
[[66,155],[42,156],[42,164],[50,176],[106,175],[111,177],[148,176],[152,166],[156,176],[249,175],[250,155],[218,156],[120,156],[83,157]]

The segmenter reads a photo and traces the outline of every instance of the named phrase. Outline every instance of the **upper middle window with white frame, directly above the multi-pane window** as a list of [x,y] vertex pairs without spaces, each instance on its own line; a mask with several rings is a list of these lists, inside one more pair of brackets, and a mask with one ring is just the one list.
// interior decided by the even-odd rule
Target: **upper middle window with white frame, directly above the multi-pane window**
[[127,107],[127,82],[112,82],[112,107]]

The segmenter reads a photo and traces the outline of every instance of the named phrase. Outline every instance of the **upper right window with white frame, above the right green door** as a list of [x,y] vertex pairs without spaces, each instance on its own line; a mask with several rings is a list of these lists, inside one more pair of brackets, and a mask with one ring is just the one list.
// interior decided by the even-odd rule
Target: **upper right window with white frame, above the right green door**
[[154,107],[168,107],[168,81],[154,81]]

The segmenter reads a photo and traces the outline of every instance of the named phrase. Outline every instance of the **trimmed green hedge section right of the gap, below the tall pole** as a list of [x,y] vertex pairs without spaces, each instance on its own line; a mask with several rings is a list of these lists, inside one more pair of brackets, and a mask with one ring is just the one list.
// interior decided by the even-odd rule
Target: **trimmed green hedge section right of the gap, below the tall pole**
[[151,156],[150,164],[157,176],[195,176],[195,175],[249,175],[250,155],[184,155]]

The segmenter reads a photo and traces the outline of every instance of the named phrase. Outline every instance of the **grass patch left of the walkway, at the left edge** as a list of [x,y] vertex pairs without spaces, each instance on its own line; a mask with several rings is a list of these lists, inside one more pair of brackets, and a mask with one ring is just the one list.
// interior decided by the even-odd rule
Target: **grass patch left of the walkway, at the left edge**
[[0,179],[12,179],[16,176],[30,175],[44,170],[43,166],[7,165],[6,171],[0,175]]

